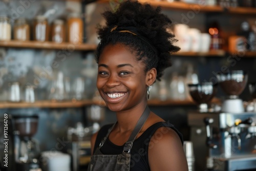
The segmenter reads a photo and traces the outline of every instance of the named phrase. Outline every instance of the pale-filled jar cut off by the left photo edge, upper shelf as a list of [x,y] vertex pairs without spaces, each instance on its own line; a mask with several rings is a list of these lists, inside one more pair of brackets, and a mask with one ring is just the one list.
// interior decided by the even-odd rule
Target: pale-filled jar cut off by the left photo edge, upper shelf
[[11,39],[11,24],[7,16],[0,16],[0,40]]

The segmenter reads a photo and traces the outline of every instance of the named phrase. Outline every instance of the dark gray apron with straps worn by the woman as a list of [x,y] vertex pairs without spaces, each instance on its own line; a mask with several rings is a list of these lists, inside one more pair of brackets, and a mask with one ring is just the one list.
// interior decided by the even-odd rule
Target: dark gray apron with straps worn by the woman
[[129,171],[130,170],[130,161],[131,161],[131,149],[133,146],[133,142],[136,139],[138,133],[140,132],[142,126],[144,125],[148,115],[150,115],[150,109],[146,106],[143,114],[138,120],[135,129],[133,130],[129,140],[125,142],[123,147],[123,153],[119,155],[103,155],[100,152],[100,147],[104,144],[106,138],[109,137],[112,129],[115,124],[109,129],[108,134],[103,138],[100,142],[99,147],[96,148],[94,155],[91,157],[91,161],[89,163],[88,171]]

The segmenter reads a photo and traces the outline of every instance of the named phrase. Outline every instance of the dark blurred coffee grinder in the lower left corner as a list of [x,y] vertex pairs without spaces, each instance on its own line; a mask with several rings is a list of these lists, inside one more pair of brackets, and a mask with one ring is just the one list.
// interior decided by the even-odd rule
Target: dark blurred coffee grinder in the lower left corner
[[15,167],[19,171],[41,171],[39,144],[32,137],[37,132],[38,116],[14,116]]

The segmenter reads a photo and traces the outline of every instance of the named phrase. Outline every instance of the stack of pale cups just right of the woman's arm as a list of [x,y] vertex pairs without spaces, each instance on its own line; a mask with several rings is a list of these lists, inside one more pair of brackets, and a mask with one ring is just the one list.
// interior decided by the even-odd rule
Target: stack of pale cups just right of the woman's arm
[[193,143],[191,141],[184,141],[183,149],[187,158],[188,171],[194,171],[195,157],[193,151]]

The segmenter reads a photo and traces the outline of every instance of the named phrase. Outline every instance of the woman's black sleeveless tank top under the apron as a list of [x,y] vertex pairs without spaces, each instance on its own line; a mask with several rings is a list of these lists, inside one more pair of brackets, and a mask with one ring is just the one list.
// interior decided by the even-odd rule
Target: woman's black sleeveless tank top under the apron
[[[98,132],[93,153],[96,148],[99,147],[101,140],[106,136],[108,130],[113,124],[104,125]],[[157,129],[160,127],[170,127],[179,135],[181,143],[183,144],[183,138],[181,133],[174,127],[173,124],[167,122],[158,122],[148,127],[144,133],[142,133],[139,138],[134,141],[131,150],[131,171],[148,171],[150,170],[150,165],[148,164],[148,146],[150,146],[151,137],[154,135]],[[115,145],[110,140],[109,137],[104,142],[103,146],[100,148],[100,152],[104,155],[117,155],[123,152],[123,146]],[[111,170],[110,170],[111,171]]]

